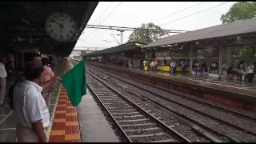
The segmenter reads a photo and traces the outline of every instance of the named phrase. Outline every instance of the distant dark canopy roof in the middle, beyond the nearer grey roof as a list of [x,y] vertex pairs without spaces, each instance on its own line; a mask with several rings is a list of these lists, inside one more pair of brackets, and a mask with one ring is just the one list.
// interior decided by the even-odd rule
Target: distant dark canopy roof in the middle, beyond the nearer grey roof
[[96,55],[102,55],[102,54],[118,53],[122,51],[136,50],[136,49],[141,50],[142,46],[146,46],[146,44],[141,42],[126,42],[125,44],[122,44],[122,45],[110,47],[104,50],[97,50],[90,54],[85,54],[85,56],[88,57],[88,56],[96,56]]

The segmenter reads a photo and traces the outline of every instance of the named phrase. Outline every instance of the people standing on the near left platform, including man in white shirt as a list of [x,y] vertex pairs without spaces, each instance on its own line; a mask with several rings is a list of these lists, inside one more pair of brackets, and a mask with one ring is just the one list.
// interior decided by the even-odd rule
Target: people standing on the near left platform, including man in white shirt
[[[0,57],[0,105],[6,96],[6,57]],[[51,59],[40,54],[29,54],[22,75],[12,86],[8,95],[10,108],[17,119],[17,142],[46,142],[46,127],[50,125],[50,92],[54,83],[59,82],[52,69]],[[5,80],[3,80],[5,78]],[[4,83],[5,82],[5,83]]]

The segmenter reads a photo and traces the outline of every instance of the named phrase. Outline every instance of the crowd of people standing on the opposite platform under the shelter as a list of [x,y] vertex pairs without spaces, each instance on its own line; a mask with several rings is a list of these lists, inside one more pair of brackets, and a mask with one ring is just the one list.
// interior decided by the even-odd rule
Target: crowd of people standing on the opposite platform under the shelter
[[[182,75],[185,75],[187,72],[187,67],[190,66],[189,61],[181,60],[177,62],[176,60],[173,60],[170,62],[170,73],[171,74],[177,74],[177,67],[182,67]],[[194,61],[194,64],[192,65],[192,69],[195,72],[195,75],[200,74],[204,75],[205,73],[213,73],[218,74],[218,62],[212,61],[210,66],[207,66],[207,63],[205,60],[201,61]],[[147,60],[143,61],[143,70],[150,70],[155,71],[158,70],[158,61],[151,60],[148,62]],[[249,65],[246,65],[244,61],[241,62],[233,62],[229,67],[226,66],[226,64],[223,64],[222,70],[226,70],[226,78],[228,80],[237,78],[239,81],[246,81],[248,83],[254,82],[254,77],[256,73],[256,62],[250,63]]]

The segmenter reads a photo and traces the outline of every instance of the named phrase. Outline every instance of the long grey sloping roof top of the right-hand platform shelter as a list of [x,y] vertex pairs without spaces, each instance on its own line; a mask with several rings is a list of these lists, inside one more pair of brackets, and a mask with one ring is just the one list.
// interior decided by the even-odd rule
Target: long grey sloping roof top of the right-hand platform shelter
[[[150,48],[157,46],[168,46],[182,42],[194,42],[198,40],[207,40],[213,38],[226,38],[237,36],[240,34],[252,34],[256,32],[256,18],[230,22],[218,26],[211,26],[201,30],[194,30],[182,34],[171,35],[152,42],[142,48]],[[254,37],[255,38],[255,37]],[[223,41],[224,39],[220,39]],[[195,44],[195,42],[194,42]]]

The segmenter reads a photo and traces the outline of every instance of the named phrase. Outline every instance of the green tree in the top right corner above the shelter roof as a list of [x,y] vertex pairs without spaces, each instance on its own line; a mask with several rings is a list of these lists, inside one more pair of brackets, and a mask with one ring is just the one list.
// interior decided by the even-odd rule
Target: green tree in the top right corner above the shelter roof
[[222,14],[222,23],[256,17],[256,2],[237,2],[226,14]]

